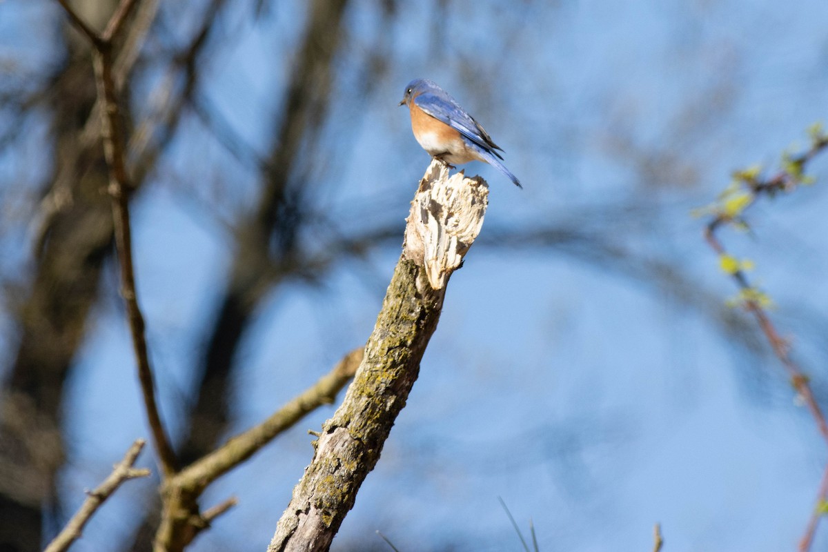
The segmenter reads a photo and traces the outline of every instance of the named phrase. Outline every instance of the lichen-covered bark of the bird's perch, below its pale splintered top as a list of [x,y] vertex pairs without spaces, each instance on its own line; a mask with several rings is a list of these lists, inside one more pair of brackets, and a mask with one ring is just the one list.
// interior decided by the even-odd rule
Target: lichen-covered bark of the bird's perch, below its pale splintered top
[[305,542],[302,550],[327,550],[406,404],[444,296],[445,288],[432,290],[421,267],[401,257],[362,365],[342,405],[325,423],[314,458],[294,489],[287,511],[301,513],[283,516],[268,550],[298,548],[302,539],[291,535],[309,522],[316,525],[315,535],[321,525],[322,535],[328,536]]

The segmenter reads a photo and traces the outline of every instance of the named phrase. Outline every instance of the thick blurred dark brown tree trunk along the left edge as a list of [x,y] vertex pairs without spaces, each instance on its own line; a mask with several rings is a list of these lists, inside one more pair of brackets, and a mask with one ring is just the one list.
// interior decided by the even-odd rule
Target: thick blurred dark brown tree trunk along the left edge
[[[84,7],[108,15],[117,3],[84,2]],[[140,33],[132,24],[129,31],[124,45],[134,42],[128,47],[138,50]],[[3,106],[4,112],[48,112],[48,149],[54,151],[51,159],[39,161],[51,175],[46,176],[48,194],[27,223],[34,257],[31,271],[25,270],[28,281],[6,295],[19,337],[0,409],[0,548],[14,550],[39,550],[45,542],[43,511],[55,504],[56,473],[64,462],[65,382],[90,327],[86,320],[99,295],[103,264],[114,249],[112,206],[100,193],[108,181],[99,146],[100,116],[89,113],[97,98],[89,79],[89,43],[83,35],[74,40],[71,32],[61,33],[72,39],[61,42],[65,64],[45,68],[45,79]],[[122,59],[124,48],[119,52]],[[16,136],[22,137],[25,119],[22,111],[14,117]],[[93,128],[90,137],[80,132],[84,121]]]

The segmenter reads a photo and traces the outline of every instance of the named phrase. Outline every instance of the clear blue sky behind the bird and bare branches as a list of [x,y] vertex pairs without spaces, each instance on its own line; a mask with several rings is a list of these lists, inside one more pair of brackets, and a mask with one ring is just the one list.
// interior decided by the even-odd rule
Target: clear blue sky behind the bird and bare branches
[[[55,8],[39,3],[56,22]],[[439,15],[437,3],[405,2],[385,33],[374,2],[349,7],[313,171],[320,209],[348,232],[402,223],[429,160],[397,102],[409,80],[427,77],[487,128],[524,184],[466,167],[489,180],[484,234],[570,224],[634,252],[633,264],[667,262],[721,304],[734,295],[690,211],[713,201],[732,170],[773,166],[793,142],[804,146],[805,128],[826,118],[824,2],[457,0]],[[227,24],[233,46],[209,63],[205,98],[260,153],[304,6],[278,2],[260,22],[240,10]],[[36,19],[33,9],[15,16]],[[26,36],[0,44],[32,56],[43,48]],[[359,96],[354,70],[379,47],[388,70]],[[152,78],[147,70],[147,89]],[[647,172],[654,157],[661,172]],[[821,180],[826,167],[813,165]],[[139,292],[174,429],[232,258],[223,222],[257,190],[253,173],[193,122],[135,201]],[[751,210],[753,233],[724,233],[737,256],[757,262],[773,317],[817,384],[828,359],[826,209],[816,185]],[[385,247],[341,263],[319,286],[291,282],[268,296],[228,390],[234,430],[364,343],[398,254]],[[114,276],[107,281],[65,406],[67,509],[147,435]],[[656,522],[669,552],[792,550],[825,444],[766,353],[733,343],[710,310],[591,262],[589,251],[479,244],[450,281],[420,379],[332,550],[358,550],[374,530],[400,550],[519,550],[498,497],[524,528],[532,518],[545,552],[651,550]],[[206,505],[229,494],[240,504],[192,550],[263,550],[310,460],[306,430],[332,412],[310,415],[211,487]],[[108,550],[128,530],[141,484],[107,504],[76,550]],[[828,545],[828,528],[818,535],[812,550]]]

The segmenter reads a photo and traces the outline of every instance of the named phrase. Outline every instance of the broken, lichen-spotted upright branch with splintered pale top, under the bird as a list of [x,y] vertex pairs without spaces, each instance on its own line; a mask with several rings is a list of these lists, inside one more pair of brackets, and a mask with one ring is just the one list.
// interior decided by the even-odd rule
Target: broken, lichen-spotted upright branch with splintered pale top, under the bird
[[[325,422],[315,454],[279,520],[268,552],[328,550],[345,515],[354,506],[365,477],[376,465],[416,380],[420,361],[440,319],[445,286],[434,289],[419,253],[438,245],[462,256],[483,221],[488,188],[483,180],[448,178],[448,170],[432,163],[421,181],[408,218],[407,243],[383,300],[363,362],[334,416]],[[421,201],[423,196],[430,200]],[[447,199],[440,204],[437,198]],[[460,204],[455,199],[464,199]],[[477,209],[482,206],[483,209]],[[468,216],[467,216],[468,215]],[[447,221],[465,220],[458,225]],[[412,232],[412,226],[420,230]],[[477,228],[470,231],[469,228]],[[449,239],[445,239],[446,235]],[[456,239],[460,238],[461,239]],[[413,247],[412,247],[413,246]],[[420,247],[422,246],[422,247]],[[418,258],[417,261],[407,257]],[[438,254],[436,257],[453,258]],[[443,283],[454,268],[442,271]],[[437,271],[440,273],[440,271]]]

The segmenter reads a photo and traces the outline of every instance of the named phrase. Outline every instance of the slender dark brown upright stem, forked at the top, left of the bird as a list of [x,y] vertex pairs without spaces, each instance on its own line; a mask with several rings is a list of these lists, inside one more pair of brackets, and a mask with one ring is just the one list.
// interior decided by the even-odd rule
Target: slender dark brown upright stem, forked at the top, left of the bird
[[161,415],[155,397],[155,385],[147,353],[147,339],[145,324],[141,309],[138,306],[135,286],[135,271],[132,265],[132,235],[129,220],[129,178],[126,166],[126,146],[121,126],[121,113],[118,103],[118,94],[113,78],[113,41],[123,30],[123,22],[137,0],[122,0],[118,8],[109,19],[103,36],[93,31],[65,0],[58,0],[69,14],[75,26],[84,33],[91,43],[94,53],[93,62],[95,81],[98,86],[99,103],[101,110],[101,137],[103,138],[103,153],[109,167],[109,194],[113,198],[113,220],[115,228],[115,243],[118,249],[118,262],[121,267],[121,295],[127,307],[129,328],[132,334],[132,347],[135,352],[138,369],[138,379],[141,382],[141,391],[144,399],[144,408],[152,430],[152,439],[161,463],[161,472],[165,477],[177,471],[177,458],[166,436]]

